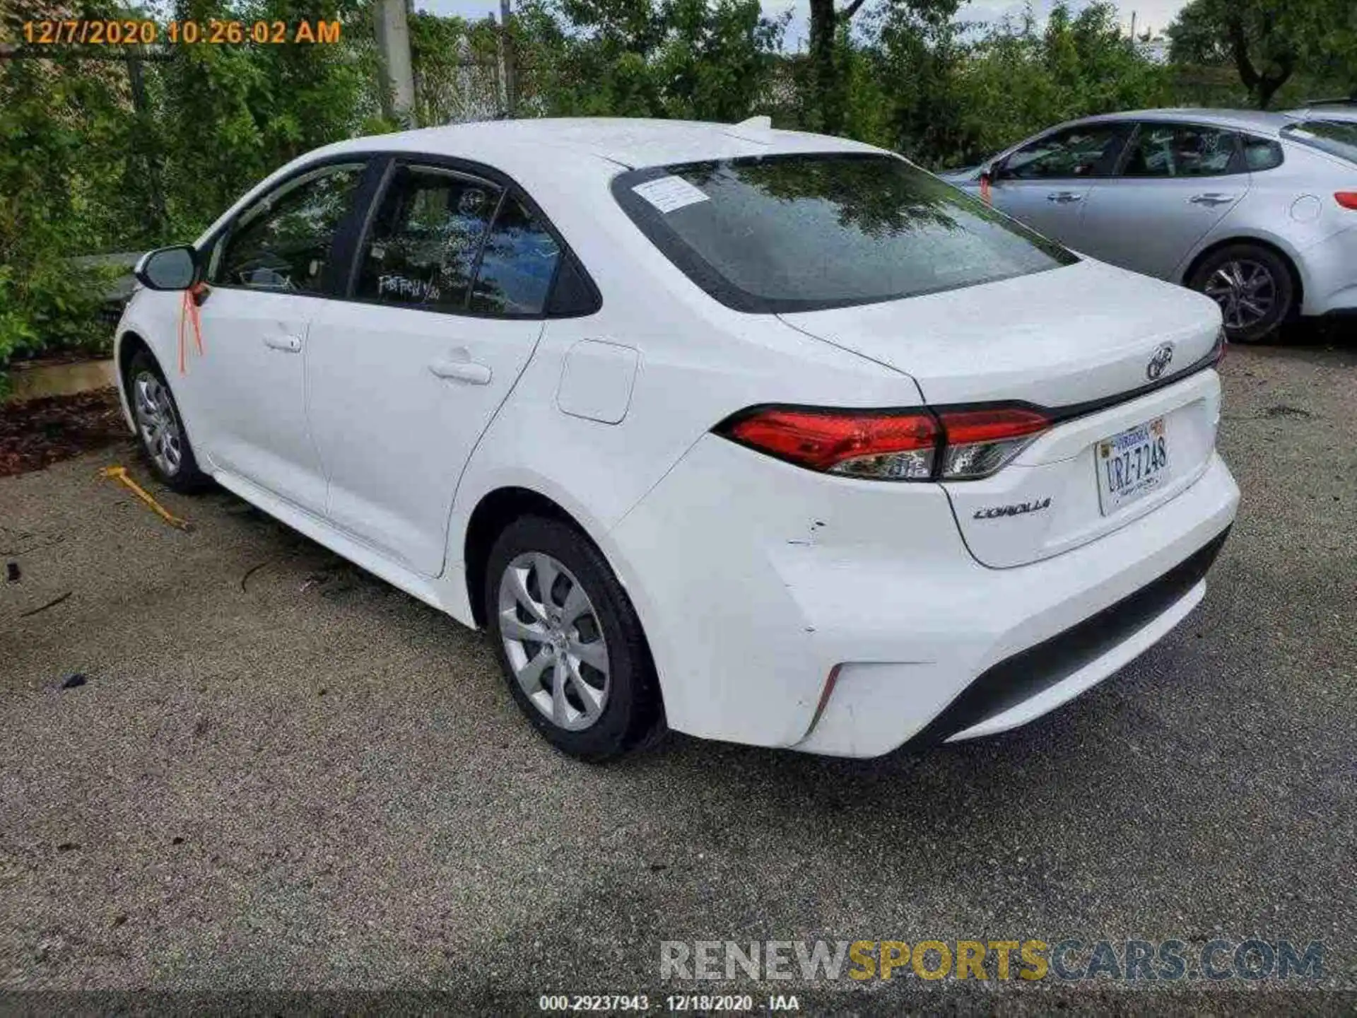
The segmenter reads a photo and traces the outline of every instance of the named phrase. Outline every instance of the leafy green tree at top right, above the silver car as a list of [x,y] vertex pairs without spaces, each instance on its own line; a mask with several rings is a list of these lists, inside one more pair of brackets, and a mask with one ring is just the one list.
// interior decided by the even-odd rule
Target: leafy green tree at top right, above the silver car
[[1357,84],[1357,5],[1349,0],[1191,0],[1168,38],[1175,62],[1232,65],[1261,110],[1300,68]]

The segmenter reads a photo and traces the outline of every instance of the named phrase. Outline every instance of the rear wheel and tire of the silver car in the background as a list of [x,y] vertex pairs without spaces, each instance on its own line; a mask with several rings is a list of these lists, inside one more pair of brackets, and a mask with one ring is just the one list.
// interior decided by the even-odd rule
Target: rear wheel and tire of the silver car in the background
[[1259,244],[1229,244],[1212,251],[1187,285],[1220,305],[1225,335],[1232,343],[1272,338],[1296,304],[1291,266]]

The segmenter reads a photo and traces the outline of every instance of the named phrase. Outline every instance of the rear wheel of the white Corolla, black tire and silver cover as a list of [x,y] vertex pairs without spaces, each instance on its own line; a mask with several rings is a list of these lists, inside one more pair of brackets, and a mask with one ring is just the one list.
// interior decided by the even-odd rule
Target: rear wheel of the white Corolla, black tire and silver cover
[[577,528],[541,516],[514,520],[490,550],[483,597],[509,691],[554,747],[600,763],[661,726],[641,619]]

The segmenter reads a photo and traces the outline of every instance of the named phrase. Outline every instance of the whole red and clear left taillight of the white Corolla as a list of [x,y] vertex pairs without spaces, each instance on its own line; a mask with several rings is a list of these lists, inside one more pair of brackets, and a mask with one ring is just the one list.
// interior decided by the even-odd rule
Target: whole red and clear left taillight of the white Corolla
[[826,474],[870,480],[974,480],[1012,460],[1050,418],[1030,407],[821,410],[754,407],[716,433]]

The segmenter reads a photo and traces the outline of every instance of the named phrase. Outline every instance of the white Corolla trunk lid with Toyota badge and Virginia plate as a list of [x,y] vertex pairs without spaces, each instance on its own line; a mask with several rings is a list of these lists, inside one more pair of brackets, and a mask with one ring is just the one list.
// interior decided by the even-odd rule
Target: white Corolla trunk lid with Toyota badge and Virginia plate
[[930,406],[1019,400],[1063,418],[997,474],[943,483],[987,566],[1049,558],[1124,527],[1196,480],[1215,449],[1216,373],[1162,380],[1210,353],[1220,312],[1158,280],[1084,261],[782,318],[908,373]]

